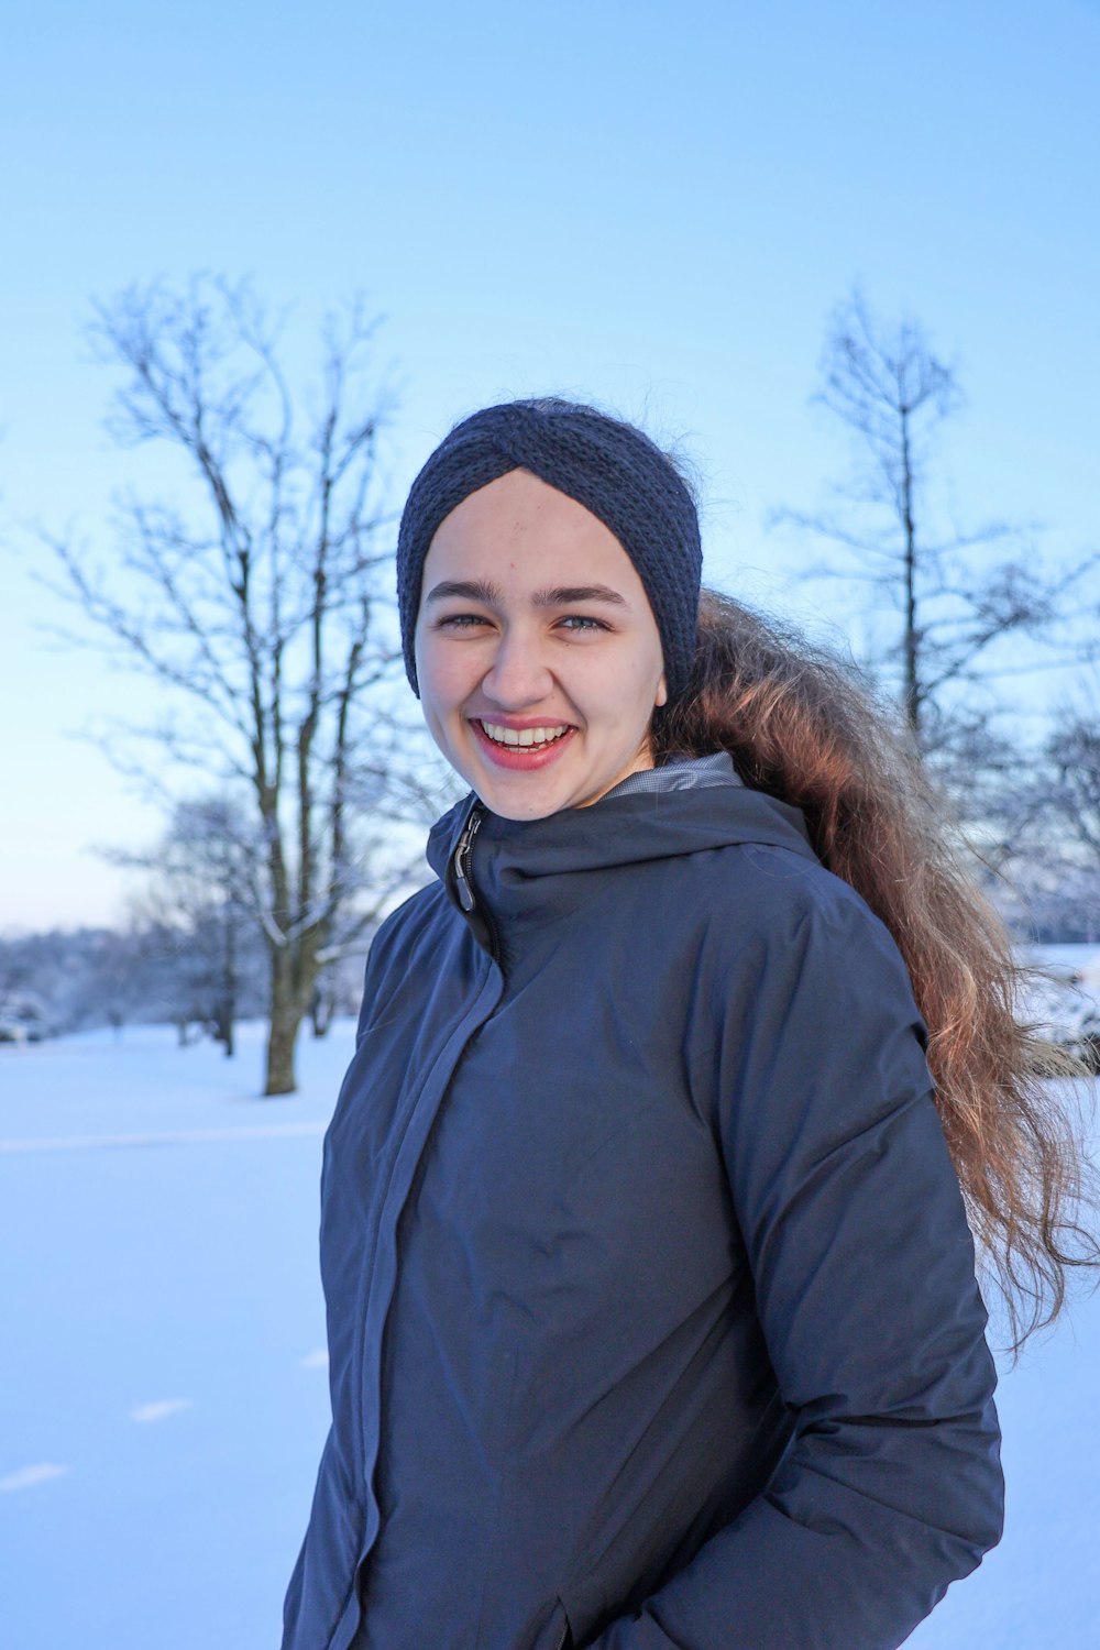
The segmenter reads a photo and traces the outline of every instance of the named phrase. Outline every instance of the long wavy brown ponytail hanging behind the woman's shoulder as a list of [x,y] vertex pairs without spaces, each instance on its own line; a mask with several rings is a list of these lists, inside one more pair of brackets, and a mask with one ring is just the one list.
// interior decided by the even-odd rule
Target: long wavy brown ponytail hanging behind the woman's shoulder
[[694,675],[653,756],[724,749],[747,785],[801,808],[823,865],[891,929],[971,1231],[1016,1351],[1100,1266],[1095,1170],[1072,1094],[1088,1068],[1021,1013],[1032,970],[966,868],[953,815],[896,711],[797,627],[703,592]]

